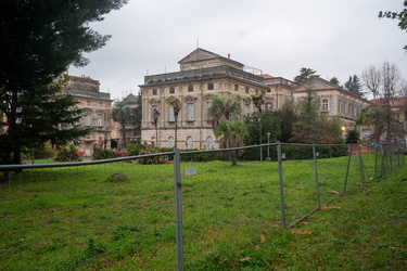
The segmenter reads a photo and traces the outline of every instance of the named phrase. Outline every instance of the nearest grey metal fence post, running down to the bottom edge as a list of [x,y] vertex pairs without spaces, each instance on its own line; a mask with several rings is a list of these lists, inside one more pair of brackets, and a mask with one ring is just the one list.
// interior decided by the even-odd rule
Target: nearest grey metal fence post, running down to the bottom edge
[[181,159],[179,150],[174,150],[174,190],[175,190],[175,220],[177,244],[177,270],[183,271],[183,240],[182,240],[182,202],[181,202]]

